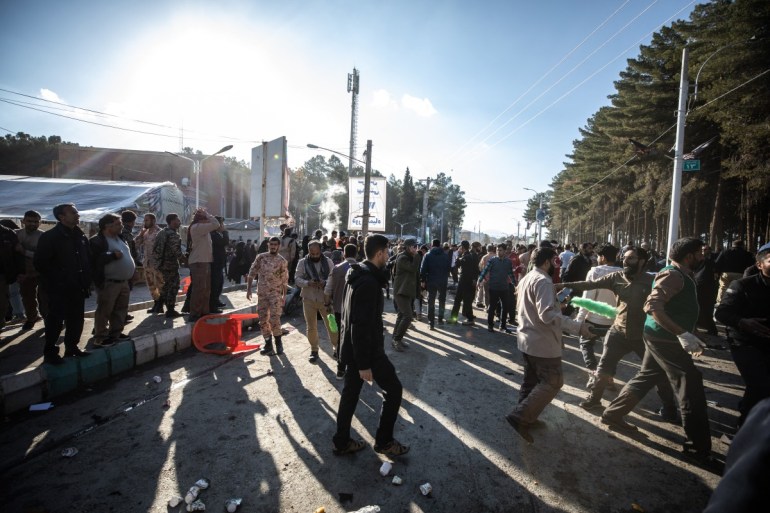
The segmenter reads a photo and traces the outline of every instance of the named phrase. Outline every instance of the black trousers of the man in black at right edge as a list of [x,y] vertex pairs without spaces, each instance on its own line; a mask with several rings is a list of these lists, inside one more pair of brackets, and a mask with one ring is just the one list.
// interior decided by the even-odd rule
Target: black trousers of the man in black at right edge
[[[762,344],[762,342],[760,342]],[[770,397],[770,348],[760,345],[730,344],[735,366],[746,383],[738,405],[741,416],[738,425],[743,425],[751,409],[762,399]]]

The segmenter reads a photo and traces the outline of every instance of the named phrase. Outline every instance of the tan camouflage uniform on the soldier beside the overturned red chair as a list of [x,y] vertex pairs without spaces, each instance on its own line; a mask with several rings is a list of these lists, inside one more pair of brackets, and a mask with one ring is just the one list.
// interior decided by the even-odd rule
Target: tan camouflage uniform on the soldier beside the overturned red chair
[[[289,283],[289,265],[281,255],[261,253],[249,269],[249,278],[257,281],[257,314],[263,335],[281,336],[283,297]],[[269,331],[268,331],[269,330]]]

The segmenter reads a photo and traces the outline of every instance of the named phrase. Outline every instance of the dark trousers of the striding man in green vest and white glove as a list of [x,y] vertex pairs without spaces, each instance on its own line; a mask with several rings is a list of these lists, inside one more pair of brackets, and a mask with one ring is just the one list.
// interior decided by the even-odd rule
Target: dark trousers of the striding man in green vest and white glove
[[[621,392],[628,391],[641,399],[654,387],[661,377],[667,376],[676,393],[679,409],[682,413],[682,427],[687,438],[692,441],[698,452],[711,450],[711,431],[706,411],[706,392],[703,389],[703,376],[695,367],[690,356],[679,342],[651,341],[645,338],[645,353],[642,368]],[[620,396],[618,396],[620,399]],[[627,408],[616,408],[613,401],[604,416],[623,416]],[[633,407],[633,406],[632,406]]]

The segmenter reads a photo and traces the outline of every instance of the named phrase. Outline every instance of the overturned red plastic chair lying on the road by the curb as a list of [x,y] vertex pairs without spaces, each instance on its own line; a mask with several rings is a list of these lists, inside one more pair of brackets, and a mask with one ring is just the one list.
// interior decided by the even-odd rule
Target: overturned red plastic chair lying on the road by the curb
[[225,355],[259,349],[262,344],[245,344],[241,340],[241,321],[246,319],[259,319],[259,315],[205,315],[193,326],[193,344],[202,353]]

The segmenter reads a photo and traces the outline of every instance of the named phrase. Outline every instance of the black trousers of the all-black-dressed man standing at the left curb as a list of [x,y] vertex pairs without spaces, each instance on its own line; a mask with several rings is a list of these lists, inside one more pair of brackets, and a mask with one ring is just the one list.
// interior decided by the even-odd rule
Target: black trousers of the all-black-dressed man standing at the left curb
[[83,334],[86,296],[81,291],[48,291],[48,315],[45,316],[45,346],[43,354],[58,354],[56,342],[62,329],[64,348],[76,349]]

